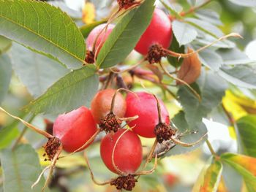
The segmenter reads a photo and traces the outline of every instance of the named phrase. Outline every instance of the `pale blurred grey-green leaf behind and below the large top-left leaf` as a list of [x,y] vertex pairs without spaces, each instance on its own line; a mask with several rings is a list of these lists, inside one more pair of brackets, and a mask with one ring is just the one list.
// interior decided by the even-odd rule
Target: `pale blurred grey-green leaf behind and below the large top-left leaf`
[[12,45],[12,67],[34,97],[40,96],[69,72],[58,62],[16,43]]

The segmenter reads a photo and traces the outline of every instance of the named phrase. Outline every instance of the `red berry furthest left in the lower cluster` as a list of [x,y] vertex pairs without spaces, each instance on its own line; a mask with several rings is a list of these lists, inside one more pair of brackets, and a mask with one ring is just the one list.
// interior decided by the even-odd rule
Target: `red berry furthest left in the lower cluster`
[[97,124],[86,107],[59,115],[53,123],[53,136],[61,140],[63,149],[69,153],[84,145],[96,131]]

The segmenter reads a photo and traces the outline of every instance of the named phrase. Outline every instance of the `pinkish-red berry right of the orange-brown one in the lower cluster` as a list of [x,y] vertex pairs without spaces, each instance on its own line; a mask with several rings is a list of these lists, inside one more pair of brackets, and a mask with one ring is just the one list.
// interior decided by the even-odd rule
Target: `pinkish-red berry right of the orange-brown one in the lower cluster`
[[[128,123],[129,127],[135,126],[132,131],[136,134],[153,138],[156,137],[154,134],[154,128],[159,123],[158,112],[157,112],[157,101],[153,95],[146,92],[138,92],[135,94],[127,94],[127,112],[125,117],[132,117],[138,115],[139,118],[132,120]],[[169,114],[162,100],[159,99],[161,106],[162,120],[169,124]]]

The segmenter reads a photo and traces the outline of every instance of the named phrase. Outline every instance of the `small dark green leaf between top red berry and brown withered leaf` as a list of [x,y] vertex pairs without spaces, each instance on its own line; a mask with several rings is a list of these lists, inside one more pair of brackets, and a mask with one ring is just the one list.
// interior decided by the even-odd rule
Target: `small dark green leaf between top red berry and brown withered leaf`
[[[182,45],[180,47],[178,45],[178,41],[177,41],[176,37],[173,36],[173,40],[172,40],[172,43],[170,44],[169,50],[172,50],[176,53],[184,53],[185,52],[185,47],[184,47],[184,45]],[[169,61],[169,63],[172,66],[178,67],[178,66],[181,66],[183,58],[175,58],[175,57],[171,57],[170,55],[167,55],[167,60]]]

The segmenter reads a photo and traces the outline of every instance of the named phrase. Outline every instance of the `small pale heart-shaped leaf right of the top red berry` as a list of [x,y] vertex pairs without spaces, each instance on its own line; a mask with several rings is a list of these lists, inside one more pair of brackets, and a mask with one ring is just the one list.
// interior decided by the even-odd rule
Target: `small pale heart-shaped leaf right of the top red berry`
[[192,42],[197,37],[197,31],[192,26],[178,20],[173,21],[173,34],[180,46]]

